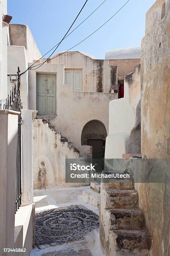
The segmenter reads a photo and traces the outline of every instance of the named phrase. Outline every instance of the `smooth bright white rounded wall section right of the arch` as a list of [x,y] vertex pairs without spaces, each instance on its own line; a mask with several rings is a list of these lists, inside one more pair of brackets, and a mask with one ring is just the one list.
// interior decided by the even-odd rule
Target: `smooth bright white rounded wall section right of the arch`
[[120,159],[126,152],[126,140],[135,125],[135,114],[129,103],[128,84],[124,84],[124,98],[109,104],[109,135],[106,138],[105,159]]

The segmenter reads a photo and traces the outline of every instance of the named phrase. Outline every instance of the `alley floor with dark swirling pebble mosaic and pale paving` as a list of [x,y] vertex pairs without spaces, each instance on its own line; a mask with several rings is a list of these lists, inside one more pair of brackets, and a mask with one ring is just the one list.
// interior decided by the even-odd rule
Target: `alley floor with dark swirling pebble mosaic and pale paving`
[[85,188],[34,191],[36,246],[31,256],[103,256],[99,210],[82,199]]

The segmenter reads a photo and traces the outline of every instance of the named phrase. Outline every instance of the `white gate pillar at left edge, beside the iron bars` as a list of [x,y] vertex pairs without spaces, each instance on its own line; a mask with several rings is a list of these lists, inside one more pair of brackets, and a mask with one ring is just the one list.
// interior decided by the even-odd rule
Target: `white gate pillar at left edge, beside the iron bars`
[[14,248],[18,114],[0,110],[0,248]]

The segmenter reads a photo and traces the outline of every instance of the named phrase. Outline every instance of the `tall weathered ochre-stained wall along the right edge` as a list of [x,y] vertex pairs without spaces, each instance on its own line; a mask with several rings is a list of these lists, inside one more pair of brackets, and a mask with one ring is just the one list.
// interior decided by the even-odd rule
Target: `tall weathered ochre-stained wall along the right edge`
[[[146,13],[141,85],[142,155],[155,159],[170,158],[170,0],[157,0]],[[166,168],[160,172],[169,176]],[[170,184],[136,184],[136,188],[153,238],[152,255],[168,256]]]

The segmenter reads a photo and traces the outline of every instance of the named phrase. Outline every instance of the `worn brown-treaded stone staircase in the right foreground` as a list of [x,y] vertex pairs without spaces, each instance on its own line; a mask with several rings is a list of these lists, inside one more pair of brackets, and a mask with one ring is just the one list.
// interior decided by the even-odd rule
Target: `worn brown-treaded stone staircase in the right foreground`
[[102,184],[100,243],[107,256],[149,255],[152,240],[133,182]]

